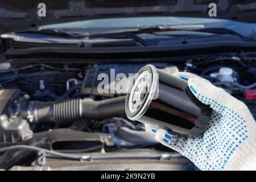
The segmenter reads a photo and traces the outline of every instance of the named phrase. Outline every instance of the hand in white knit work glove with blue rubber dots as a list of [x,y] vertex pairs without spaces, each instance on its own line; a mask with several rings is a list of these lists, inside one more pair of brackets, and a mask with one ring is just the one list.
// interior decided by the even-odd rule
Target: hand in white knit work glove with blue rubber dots
[[146,131],[201,170],[255,170],[256,122],[247,106],[204,78],[185,72],[174,75],[187,78],[196,98],[213,109],[207,129],[195,138],[148,125]]

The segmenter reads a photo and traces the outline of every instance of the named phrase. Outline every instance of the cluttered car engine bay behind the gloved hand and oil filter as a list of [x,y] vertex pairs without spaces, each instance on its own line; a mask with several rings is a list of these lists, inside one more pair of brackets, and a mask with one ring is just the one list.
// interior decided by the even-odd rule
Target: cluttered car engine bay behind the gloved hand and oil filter
[[[245,102],[256,118],[254,56],[213,56],[150,64],[170,74],[185,71],[206,78]],[[117,79],[118,73],[129,77],[143,65],[146,64],[0,64],[0,146],[27,144],[59,152],[96,154],[174,152],[147,134],[142,123],[127,119],[125,94],[116,93],[110,86],[122,81]],[[108,93],[98,92],[101,73],[108,76]],[[31,152],[34,151],[5,152],[0,156],[0,168],[32,166],[36,155],[31,156]],[[189,161],[181,163],[192,165]]]

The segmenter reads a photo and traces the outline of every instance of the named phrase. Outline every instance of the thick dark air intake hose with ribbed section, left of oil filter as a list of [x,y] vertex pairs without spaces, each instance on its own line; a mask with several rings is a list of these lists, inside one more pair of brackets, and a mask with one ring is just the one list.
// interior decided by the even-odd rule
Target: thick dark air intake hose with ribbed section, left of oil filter
[[31,122],[73,123],[89,119],[108,119],[125,115],[125,96],[103,101],[32,101],[26,108],[20,109],[18,115],[29,118]]

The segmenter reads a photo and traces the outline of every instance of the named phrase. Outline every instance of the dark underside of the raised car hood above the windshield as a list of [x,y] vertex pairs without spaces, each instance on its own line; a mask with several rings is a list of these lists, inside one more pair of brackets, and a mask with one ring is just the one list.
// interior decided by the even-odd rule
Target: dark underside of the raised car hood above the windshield
[[[38,4],[46,16],[38,16]],[[209,17],[209,3],[217,17]],[[256,23],[256,0],[0,0],[0,34],[46,24],[134,16],[186,16]]]

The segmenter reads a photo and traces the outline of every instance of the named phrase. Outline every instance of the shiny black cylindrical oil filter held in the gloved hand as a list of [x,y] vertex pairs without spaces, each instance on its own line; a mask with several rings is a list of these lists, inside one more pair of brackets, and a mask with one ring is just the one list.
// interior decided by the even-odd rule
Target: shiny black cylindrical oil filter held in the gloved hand
[[186,80],[154,65],[144,66],[134,76],[125,111],[133,121],[191,137],[201,134],[212,114],[212,109],[192,94]]

